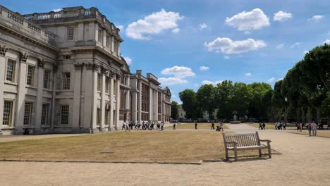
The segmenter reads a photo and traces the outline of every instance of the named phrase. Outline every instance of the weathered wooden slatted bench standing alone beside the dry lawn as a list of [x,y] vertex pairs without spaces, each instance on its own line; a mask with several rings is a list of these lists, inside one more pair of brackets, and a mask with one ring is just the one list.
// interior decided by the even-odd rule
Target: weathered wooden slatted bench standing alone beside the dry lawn
[[[234,151],[235,161],[237,161],[237,151],[244,150],[259,150],[259,157],[262,156],[262,149],[268,149],[268,156],[271,159],[271,140],[260,140],[258,132],[248,134],[233,134],[227,135],[223,133],[224,146],[226,149],[226,161],[228,161],[228,151]],[[260,142],[267,142],[267,145]]]

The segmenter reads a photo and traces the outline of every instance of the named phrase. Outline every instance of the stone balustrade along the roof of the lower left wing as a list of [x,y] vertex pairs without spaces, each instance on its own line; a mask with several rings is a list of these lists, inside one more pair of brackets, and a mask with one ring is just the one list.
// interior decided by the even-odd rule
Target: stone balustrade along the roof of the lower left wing
[[25,34],[31,35],[42,42],[48,42],[51,45],[56,45],[56,35],[42,29],[37,24],[21,16],[19,13],[14,13],[4,6],[0,6],[0,18],[4,19],[3,23],[16,28]]

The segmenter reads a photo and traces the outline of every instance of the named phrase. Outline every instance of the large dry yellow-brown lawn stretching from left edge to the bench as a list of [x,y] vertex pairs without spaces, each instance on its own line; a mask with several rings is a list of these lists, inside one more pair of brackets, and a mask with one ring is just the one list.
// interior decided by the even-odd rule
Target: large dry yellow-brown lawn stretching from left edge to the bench
[[115,132],[0,143],[0,159],[195,162],[222,158],[222,133],[214,131]]

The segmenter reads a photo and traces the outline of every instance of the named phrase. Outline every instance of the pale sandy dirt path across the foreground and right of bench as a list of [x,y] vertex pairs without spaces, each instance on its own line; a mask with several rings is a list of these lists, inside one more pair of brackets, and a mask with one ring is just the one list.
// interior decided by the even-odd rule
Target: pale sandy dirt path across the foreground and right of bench
[[[228,127],[255,131],[244,124]],[[276,130],[259,134],[283,155],[202,166],[0,162],[0,185],[329,185],[330,139]]]

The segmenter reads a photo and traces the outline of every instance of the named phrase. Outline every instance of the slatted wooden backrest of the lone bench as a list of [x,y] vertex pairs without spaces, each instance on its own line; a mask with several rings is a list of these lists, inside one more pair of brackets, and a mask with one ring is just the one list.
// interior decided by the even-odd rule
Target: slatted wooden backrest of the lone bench
[[224,137],[225,147],[234,146],[234,144],[228,144],[227,142],[237,142],[236,145],[237,147],[260,145],[258,132],[248,133],[248,134],[233,134],[233,135],[226,135],[225,133],[223,133],[223,137]]

